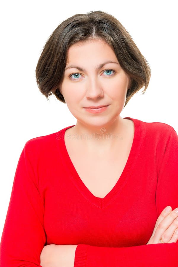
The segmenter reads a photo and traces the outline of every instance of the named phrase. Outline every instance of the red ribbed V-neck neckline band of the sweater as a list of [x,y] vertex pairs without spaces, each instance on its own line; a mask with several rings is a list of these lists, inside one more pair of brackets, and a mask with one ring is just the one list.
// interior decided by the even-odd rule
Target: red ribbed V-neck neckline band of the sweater
[[84,182],[79,177],[70,159],[70,156],[68,154],[68,151],[65,145],[65,140],[64,140],[65,131],[68,128],[71,128],[75,125],[68,126],[59,131],[61,132],[60,136],[62,136],[62,138],[60,138],[61,142],[57,140],[59,144],[59,150],[61,151],[60,158],[61,158],[63,165],[66,168],[66,171],[68,172],[70,179],[72,180],[74,185],[77,187],[78,191],[83,195],[83,197],[86,198],[94,206],[97,206],[98,208],[104,209],[106,206],[108,206],[111,201],[113,201],[116,197],[118,197],[119,193],[124,188],[128,180],[132,179],[132,171],[134,170],[134,166],[137,162],[137,158],[139,155],[139,150],[142,146],[142,142],[144,138],[143,122],[141,120],[133,119],[131,117],[125,117],[124,119],[130,119],[134,122],[134,138],[132,141],[132,147],[131,147],[126,165],[124,167],[124,170],[121,173],[121,176],[118,178],[118,181],[116,182],[114,187],[110,190],[110,192],[104,198],[94,196],[92,192],[86,187]]

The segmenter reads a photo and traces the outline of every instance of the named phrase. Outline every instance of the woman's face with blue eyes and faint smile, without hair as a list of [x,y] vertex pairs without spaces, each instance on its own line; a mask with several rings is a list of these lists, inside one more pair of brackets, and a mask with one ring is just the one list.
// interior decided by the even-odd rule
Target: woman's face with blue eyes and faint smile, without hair
[[[101,39],[78,42],[67,60],[60,92],[72,115],[85,125],[110,124],[124,108],[130,82],[111,47]],[[100,105],[108,107],[100,113],[85,109]]]

